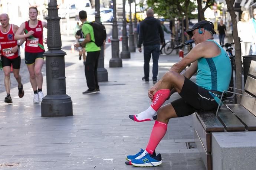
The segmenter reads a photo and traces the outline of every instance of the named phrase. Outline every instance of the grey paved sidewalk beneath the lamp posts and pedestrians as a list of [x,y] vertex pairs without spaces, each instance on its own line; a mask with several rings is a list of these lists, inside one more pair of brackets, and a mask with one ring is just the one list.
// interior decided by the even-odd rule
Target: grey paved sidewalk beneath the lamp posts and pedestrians
[[[62,44],[70,47],[69,43],[63,40]],[[194,142],[191,116],[170,120],[168,131],[156,149],[162,154],[161,166],[125,165],[127,154],[146,147],[154,125],[153,121],[138,123],[128,118],[151,103],[147,91],[152,81],[141,80],[142,53],[131,53],[131,59],[122,60],[122,68],[109,68],[109,46],[105,56],[109,81],[100,82],[101,93],[83,95],[87,89],[83,63],[78,60],[77,52],[65,51],[65,61],[74,63],[66,67],[66,93],[73,102],[73,116],[42,118],[40,104],[33,104],[29,82],[23,85],[22,99],[15,95],[17,88],[11,89],[12,104],[3,102],[6,92],[1,92],[0,169],[205,170],[198,150],[186,146],[186,142]],[[159,75],[177,61],[178,56],[161,55]],[[45,77],[43,92],[46,95]],[[177,93],[171,97],[175,98]]]

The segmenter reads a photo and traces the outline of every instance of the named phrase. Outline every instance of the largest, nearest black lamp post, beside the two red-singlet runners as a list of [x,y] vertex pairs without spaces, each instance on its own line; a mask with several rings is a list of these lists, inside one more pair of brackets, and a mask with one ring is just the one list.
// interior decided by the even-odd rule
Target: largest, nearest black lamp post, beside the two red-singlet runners
[[41,115],[72,116],[70,96],[66,95],[65,60],[66,52],[61,50],[60,17],[56,0],[49,0],[47,20],[46,84],[47,95],[41,103]]

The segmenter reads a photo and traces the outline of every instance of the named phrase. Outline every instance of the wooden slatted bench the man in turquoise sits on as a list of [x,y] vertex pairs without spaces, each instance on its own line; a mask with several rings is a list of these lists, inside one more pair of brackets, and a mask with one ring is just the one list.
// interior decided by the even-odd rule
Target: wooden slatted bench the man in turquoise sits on
[[252,61],[240,104],[193,114],[194,138],[207,170],[212,170],[212,133],[256,131],[256,61]]

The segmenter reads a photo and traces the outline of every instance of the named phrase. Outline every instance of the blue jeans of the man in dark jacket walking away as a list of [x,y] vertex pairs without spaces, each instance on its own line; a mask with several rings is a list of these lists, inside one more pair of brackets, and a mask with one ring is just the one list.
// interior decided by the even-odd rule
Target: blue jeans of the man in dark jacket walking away
[[157,80],[157,75],[158,75],[158,59],[160,55],[160,44],[158,45],[147,45],[144,46],[144,79],[148,80],[149,78],[149,63],[150,63],[150,58],[152,54],[152,59],[153,59],[153,81]]

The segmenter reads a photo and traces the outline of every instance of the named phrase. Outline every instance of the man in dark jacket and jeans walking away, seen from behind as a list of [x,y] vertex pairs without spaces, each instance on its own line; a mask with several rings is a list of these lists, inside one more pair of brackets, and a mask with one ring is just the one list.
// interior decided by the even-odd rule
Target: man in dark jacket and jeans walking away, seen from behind
[[138,50],[141,52],[141,44],[144,46],[144,77],[142,80],[149,82],[149,63],[152,54],[153,59],[153,83],[157,82],[158,58],[160,55],[160,43],[164,44],[164,32],[160,21],[154,16],[152,9],[147,10],[147,18],[140,23]]

